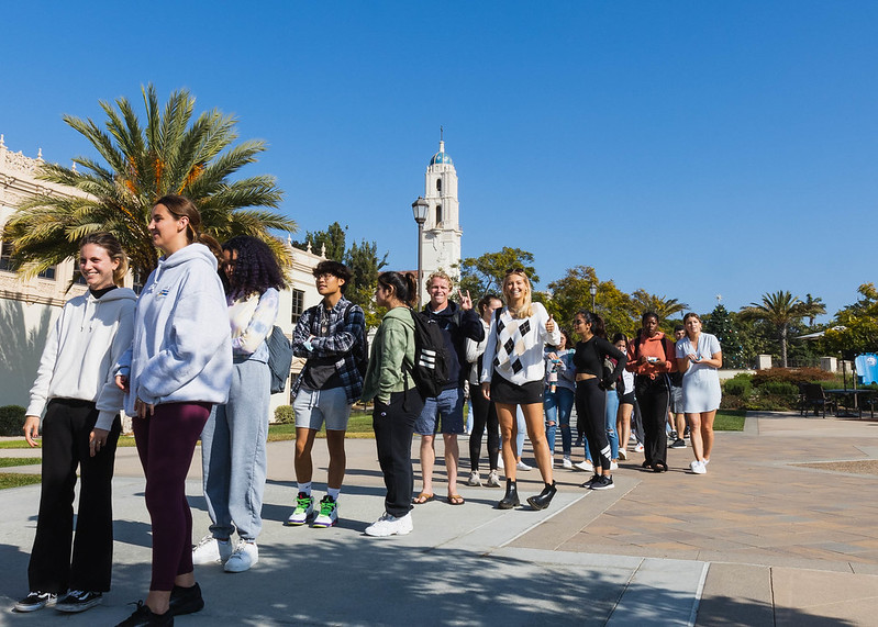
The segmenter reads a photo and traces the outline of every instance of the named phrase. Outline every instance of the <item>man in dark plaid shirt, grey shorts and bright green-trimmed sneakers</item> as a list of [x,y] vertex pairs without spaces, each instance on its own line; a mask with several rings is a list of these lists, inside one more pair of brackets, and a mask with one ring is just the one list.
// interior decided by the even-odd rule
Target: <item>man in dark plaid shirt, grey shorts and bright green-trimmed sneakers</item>
[[351,271],[337,261],[321,261],[313,271],[320,304],[307,310],[292,334],[292,352],[308,361],[292,384],[296,413],[296,510],[286,525],[304,525],[314,513],[311,495],[311,448],[314,436],[326,424],[330,451],[326,496],[320,502],[314,527],[332,527],[338,520],[338,493],[345,473],[344,439],[351,406],[359,400],[368,358],[366,317],[344,298]]

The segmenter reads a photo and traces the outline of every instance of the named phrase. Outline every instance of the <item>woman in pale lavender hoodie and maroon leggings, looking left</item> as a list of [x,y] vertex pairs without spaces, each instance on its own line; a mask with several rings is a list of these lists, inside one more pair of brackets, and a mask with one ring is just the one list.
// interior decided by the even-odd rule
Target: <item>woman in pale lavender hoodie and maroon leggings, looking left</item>
[[232,344],[216,257],[199,234],[201,214],[180,195],[153,208],[149,232],[165,256],[137,301],[132,350],[116,382],[146,474],[153,525],[153,576],[145,603],[120,625],[170,625],[204,606],[192,569],[192,514],[186,474],[211,407],[225,403]]

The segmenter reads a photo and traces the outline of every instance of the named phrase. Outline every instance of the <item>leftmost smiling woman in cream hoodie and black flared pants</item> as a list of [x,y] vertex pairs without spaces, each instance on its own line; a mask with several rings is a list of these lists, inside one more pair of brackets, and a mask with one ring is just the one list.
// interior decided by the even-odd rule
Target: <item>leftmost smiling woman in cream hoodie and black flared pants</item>
[[[45,411],[40,516],[27,567],[31,592],[15,604],[18,612],[55,604],[64,593],[56,608],[82,612],[110,590],[111,484],[122,407],[112,367],[131,346],[136,295],[116,287],[127,258],[109,233],[82,239],[79,271],[88,292],[67,301],[49,329],[24,422],[24,437],[36,446]],[[74,540],[77,467],[81,479]]]

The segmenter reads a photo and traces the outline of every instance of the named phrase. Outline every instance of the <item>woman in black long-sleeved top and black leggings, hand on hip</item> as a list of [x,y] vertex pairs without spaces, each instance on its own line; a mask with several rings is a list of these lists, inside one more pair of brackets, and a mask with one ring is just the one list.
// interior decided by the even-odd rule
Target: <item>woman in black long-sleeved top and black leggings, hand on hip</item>
[[[582,484],[592,490],[611,490],[610,441],[607,438],[605,391],[622,374],[627,357],[607,340],[603,318],[580,310],[574,318],[574,331],[582,338],[576,345],[576,413],[593,456],[594,477]],[[615,359],[615,365],[609,359]],[[607,366],[604,366],[604,363]]]

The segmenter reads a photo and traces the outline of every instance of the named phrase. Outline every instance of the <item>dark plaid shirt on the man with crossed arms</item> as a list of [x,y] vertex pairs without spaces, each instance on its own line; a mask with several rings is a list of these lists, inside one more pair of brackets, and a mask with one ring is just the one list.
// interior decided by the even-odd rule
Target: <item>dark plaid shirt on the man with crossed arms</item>
[[[351,312],[345,322],[345,310],[351,306]],[[342,296],[335,306],[330,310],[329,328],[326,335],[320,333],[320,316],[323,310],[321,302],[308,309],[296,331],[292,332],[292,354],[296,357],[336,357],[335,369],[342,379],[345,395],[349,404],[356,403],[363,394],[363,377],[357,369],[355,355],[365,352],[366,345],[366,316],[363,310]],[[308,350],[304,343],[309,337],[313,350]],[[367,356],[365,356],[367,357]],[[302,384],[302,374],[308,368],[305,363],[302,373],[296,379],[290,390],[290,395],[296,398]]]

